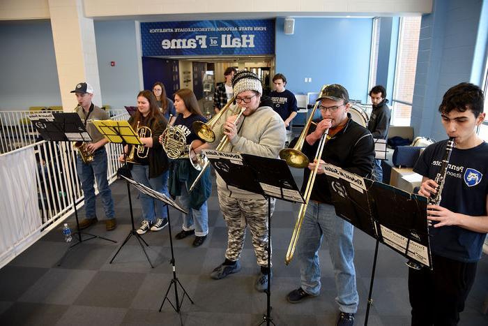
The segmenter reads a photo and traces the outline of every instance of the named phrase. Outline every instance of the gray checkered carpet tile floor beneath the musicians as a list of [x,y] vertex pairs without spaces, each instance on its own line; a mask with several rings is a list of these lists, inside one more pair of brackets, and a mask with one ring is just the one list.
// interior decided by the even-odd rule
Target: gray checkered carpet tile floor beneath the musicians
[[[293,169],[292,169],[293,170]],[[293,170],[297,182],[300,171]],[[168,302],[162,306],[173,278],[168,228],[148,232],[143,239],[154,268],[148,263],[136,237],[130,237],[112,263],[110,260],[128,236],[130,209],[123,181],[111,186],[119,223],[116,230],[105,231],[102,204],[97,198],[98,224],[85,230],[100,237],[68,250],[61,226],[48,232],[8,265],[0,269],[0,325],[259,325],[266,312],[266,294],[254,290],[259,273],[249,232],[241,257],[241,272],[215,281],[209,274],[224,260],[227,228],[218,207],[215,185],[208,200],[210,232],[199,248],[192,247],[193,237],[173,240],[178,281],[188,297],[183,299],[181,316]],[[132,189],[136,227],[141,208],[137,190]],[[289,291],[300,285],[296,260],[284,264],[298,205],[277,201],[272,221],[273,282],[271,316],[275,325],[335,325],[337,304],[333,269],[324,242],[320,250],[321,294],[298,304],[286,300]],[[80,218],[84,210],[79,210]],[[181,230],[181,214],[170,210],[173,236]],[[75,225],[74,216],[66,221]],[[86,239],[86,236],[83,235]],[[75,240],[73,240],[75,241]],[[374,258],[374,239],[355,231],[355,265],[360,306],[356,325],[364,325],[367,297]],[[61,258],[64,259],[58,266]],[[373,304],[368,325],[409,325],[410,306],[407,267],[401,255],[380,245],[373,288]],[[183,290],[178,286],[181,299]],[[482,306],[488,296],[488,257],[478,266],[473,290],[459,325],[488,325]],[[174,286],[169,299],[174,303]]]

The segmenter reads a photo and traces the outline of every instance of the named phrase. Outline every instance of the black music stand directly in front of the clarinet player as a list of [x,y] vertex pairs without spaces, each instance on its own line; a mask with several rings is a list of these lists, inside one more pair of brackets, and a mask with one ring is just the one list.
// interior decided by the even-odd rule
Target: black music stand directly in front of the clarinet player
[[432,269],[427,199],[359,177],[335,165],[326,164],[325,169],[337,216],[376,239],[365,316],[367,325],[379,242]]

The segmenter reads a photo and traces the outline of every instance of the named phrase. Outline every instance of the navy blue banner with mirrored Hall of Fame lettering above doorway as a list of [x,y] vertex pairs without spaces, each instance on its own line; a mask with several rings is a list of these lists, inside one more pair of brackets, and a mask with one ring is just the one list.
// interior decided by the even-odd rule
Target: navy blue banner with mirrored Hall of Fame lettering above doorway
[[275,53],[275,20],[142,22],[143,57]]

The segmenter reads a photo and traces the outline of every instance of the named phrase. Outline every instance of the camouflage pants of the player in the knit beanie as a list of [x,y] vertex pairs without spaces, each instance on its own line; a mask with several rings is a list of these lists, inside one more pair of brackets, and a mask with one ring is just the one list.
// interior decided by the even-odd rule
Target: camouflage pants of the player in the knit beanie
[[[268,200],[267,199],[236,199],[227,195],[219,195],[220,209],[228,228],[227,250],[225,258],[236,261],[241,258],[245,229],[249,225],[252,235],[252,246],[256,254],[257,264],[268,265]],[[275,198],[271,198],[271,214],[275,210]]]

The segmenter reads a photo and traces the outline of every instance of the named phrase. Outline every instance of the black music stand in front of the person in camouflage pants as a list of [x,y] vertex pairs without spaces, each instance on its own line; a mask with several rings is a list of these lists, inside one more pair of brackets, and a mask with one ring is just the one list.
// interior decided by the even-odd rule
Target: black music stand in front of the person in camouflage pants
[[287,163],[280,159],[254,156],[250,154],[229,153],[224,151],[202,151],[212,163],[215,171],[229,186],[259,193],[268,200],[268,288],[266,292],[266,314],[259,325],[273,324],[271,318],[271,198],[289,202],[304,203]]

